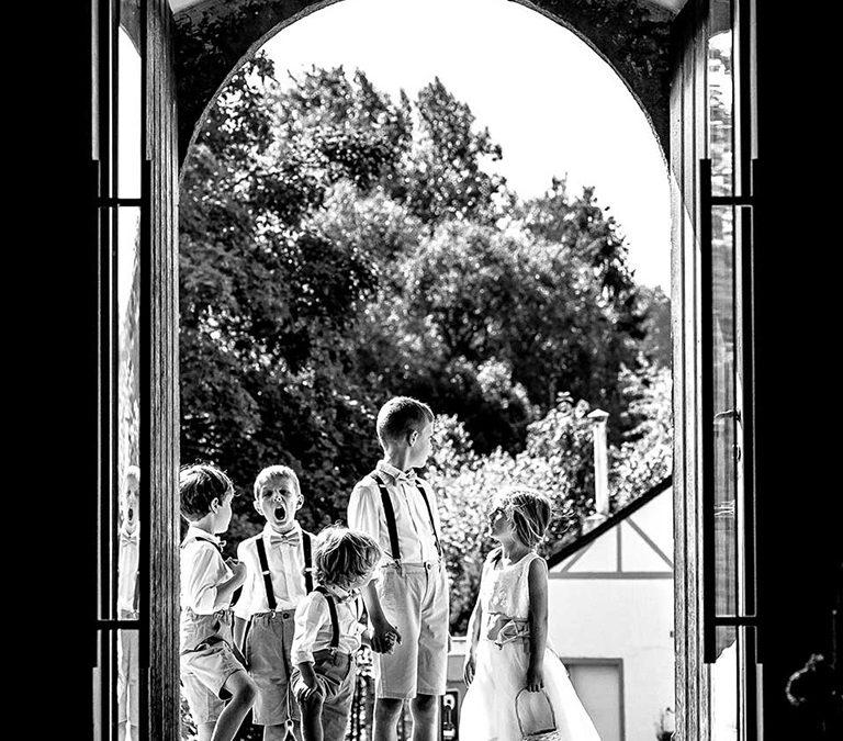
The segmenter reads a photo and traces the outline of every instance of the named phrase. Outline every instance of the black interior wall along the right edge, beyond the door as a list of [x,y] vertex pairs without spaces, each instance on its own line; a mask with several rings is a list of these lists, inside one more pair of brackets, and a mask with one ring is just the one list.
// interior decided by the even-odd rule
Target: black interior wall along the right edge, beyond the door
[[777,3],[757,4],[760,649],[766,738],[808,739],[806,718],[784,691],[811,653],[831,651],[843,559],[841,273],[832,263],[840,244],[840,127],[829,114],[838,42],[801,5],[788,13]]

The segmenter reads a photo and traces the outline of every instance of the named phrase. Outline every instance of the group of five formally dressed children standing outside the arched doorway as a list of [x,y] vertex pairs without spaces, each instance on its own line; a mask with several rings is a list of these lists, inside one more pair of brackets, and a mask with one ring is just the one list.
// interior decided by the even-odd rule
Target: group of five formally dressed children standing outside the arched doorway
[[[355,656],[363,642],[373,651],[374,741],[396,739],[405,701],[414,741],[438,737],[450,644],[448,579],[436,494],[417,474],[430,456],[432,431],[434,414],[426,404],[407,396],[384,404],[376,419],[383,459],[351,492],[348,527],[334,525],[318,536],[296,521],[304,499],[292,469],[263,469],[255,481],[254,505],[266,525],[239,543],[237,560],[223,559],[218,538],[232,518],[231,480],[211,465],[181,470],[181,513],[189,523],[181,544],[181,683],[200,741],[229,741],[249,709],[252,722],[263,726],[265,740],[291,734],[340,741],[356,686]],[[491,711],[498,709],[501,692],[513,694],[515,718],[512,689],[520,683],[544,691],[546,681],[557,717],[566,717],[559,700],[570,703],[573,688],[561,663],[561,677],[547,671],[547,570],[535,552],[549,517],[548,499],[529,491],[510,492],[495,510],[491,535],[502,548],[484,566],[465,660],[464,709],[472,718],[497,717]],[[517,564],[518,573],[529,574],[524,584],[507,572]],[[499,598],[487,598],[497,570],[508,575],[492,592],[503,584],[505,592],[515,588],[520,595],[510,615],[498,609]],[[498,686],[495,676],[501,656],[488,648],[495,643],[506,648],[501,656],[510,663],[506,685]],[[563,697],[560,686],[570,693]],[[570,728],[586,728],[575,694],[573,701],[581,712]],[[491,730],[479,733],[475,720],[461,722],[460,736],[516,738],[488,722],[485,728]]]

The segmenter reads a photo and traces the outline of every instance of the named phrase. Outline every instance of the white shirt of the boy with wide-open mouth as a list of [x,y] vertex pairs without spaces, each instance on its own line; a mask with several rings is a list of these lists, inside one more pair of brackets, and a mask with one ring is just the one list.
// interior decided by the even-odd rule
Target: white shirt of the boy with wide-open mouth
[[[297,543],[285,542],[289,537],[297,538]],[[277,610],[293,610],[302,600],[305,592],[304,584],[304,549],[302,547],[302,526],[293,523],[293,528],[283,536],[277,534],[267,523],[263,530],[247,538],[237,546],[237,560],[246,564],[246,581],[243,583],[234,614],[248,620],[258,613],[268,613],[267,588],[263,572],[258,558],[257,541],[263,541],[267,551],[267,563],[272,579],[272,592],[276,595]]]

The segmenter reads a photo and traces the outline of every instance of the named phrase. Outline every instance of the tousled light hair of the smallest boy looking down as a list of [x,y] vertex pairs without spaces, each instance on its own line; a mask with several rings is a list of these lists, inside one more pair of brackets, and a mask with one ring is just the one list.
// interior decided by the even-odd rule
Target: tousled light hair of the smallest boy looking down
[[381,549],[366,532],[330,525],[318,535],[313,553],[316,581],[345,587],[381,560]]

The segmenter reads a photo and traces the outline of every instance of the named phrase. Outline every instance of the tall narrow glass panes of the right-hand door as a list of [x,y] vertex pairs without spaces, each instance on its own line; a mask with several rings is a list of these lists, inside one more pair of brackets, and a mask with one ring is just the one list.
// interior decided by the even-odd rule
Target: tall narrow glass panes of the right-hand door
[[[709,4],[709,41],[707,64],[708,158],[710,160],[710,242],[702,249],[708,268],[704,280],[709,281],[706,294],[709,305],[705,338],[709,348],[710,373],[704,425],[711,425],[708,444],[709,499],[706,513],[713,518],[708,559],[713,570],[707,594],[708,620],[713,625],[713,645],[708,647],[709,664],[709,728],[715,741],[737,741],[745,738],[739,731],[743,717],[741,692],[741,651],[738,627],[728,625],[740,615],[739,574],[742,555],[739,542],[739,508],[742,492],[741,461],[741,394],[739,373],[742,370],[738,345],[741,313],[737,287],[737,207],[731,200],[737,194],[735,130],[734,130],[734,33],[730,0],[711,0]],[[713,604],[711,604],[713,603]],[[727,622],[727,625],[723,625]],[[711,639],[709,639],[711,640]]]

